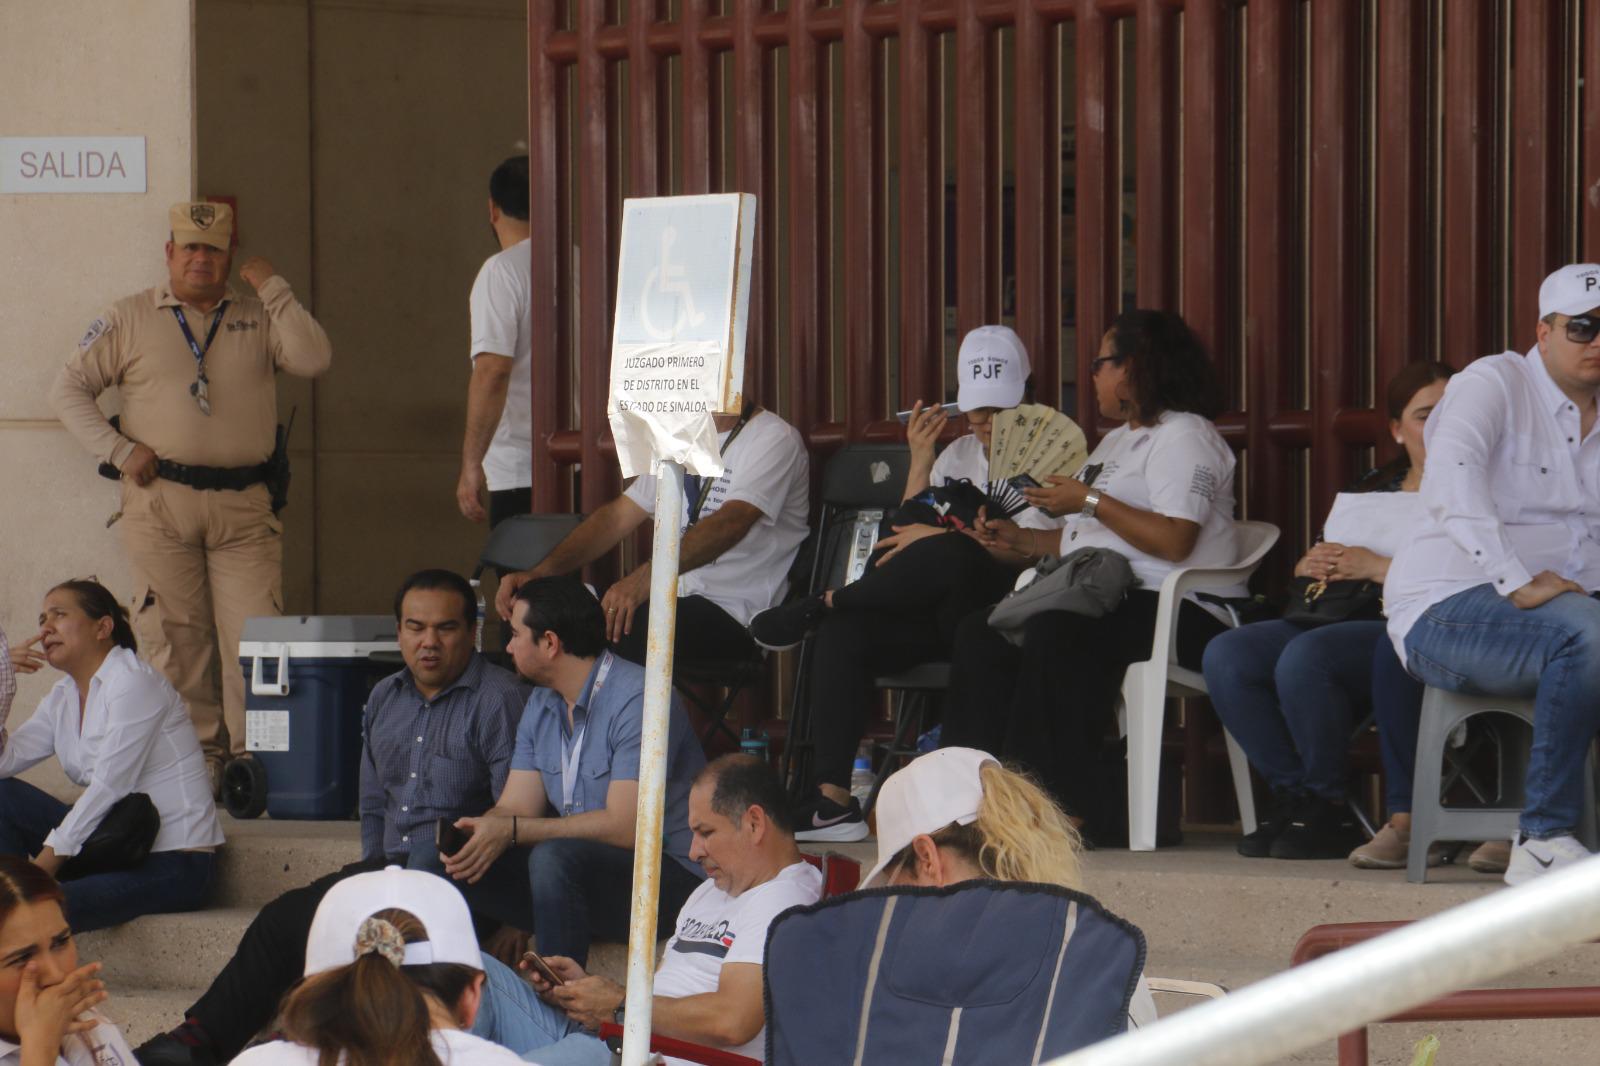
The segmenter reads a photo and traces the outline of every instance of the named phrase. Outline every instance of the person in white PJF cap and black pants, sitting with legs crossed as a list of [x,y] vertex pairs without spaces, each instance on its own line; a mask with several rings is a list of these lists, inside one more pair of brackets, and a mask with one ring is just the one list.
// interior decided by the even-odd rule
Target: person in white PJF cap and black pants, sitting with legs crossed
[[[957,403],[968,432],[936,458],[934,447],[947,421],[944,408],[912,407],[906,426],[910,445],[906,501],[950,480],[989,482],[994,419],[1024,400],[1027,351],[1006,327],[978,327],[962,341],[957,375]],[[1075,469],[1086,451],[1083,431],[1056,418],[1066,423],[1070,458],[1064,469]],[[1037,528],[1059,525],[1032,507],[1018,517]],[[850,795],[850,771],[870,706],[872,677],[949,658],[955,624],[1005,595],[1021,568],[1018,557],[984,551],[970,531],[896,525],[878,539],[874,563],[861,579],[762,611],[750,621],[750,635],[771,650],[792,648],[816,631],[805,690],[814,792],[795,812],[797,840],[867,836],[861,805]]]

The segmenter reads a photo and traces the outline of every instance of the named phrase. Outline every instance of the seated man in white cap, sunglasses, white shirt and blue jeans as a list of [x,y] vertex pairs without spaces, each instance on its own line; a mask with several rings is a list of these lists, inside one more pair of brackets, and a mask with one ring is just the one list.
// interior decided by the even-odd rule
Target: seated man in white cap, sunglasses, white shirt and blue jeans
[[[1576,832],[1600,728],[1600,264],[1539,287],[1536,344],[1451,378],[1427,419],[1424,528],[1384,583],[1406,669],[1534,699],[1506,884],[1589,856]],[[1427,752],[1424,752],[1426,757]]]

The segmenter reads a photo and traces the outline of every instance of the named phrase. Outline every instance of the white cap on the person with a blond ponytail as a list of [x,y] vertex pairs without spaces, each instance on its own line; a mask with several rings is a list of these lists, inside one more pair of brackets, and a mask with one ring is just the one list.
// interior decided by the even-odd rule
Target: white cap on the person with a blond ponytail
[[861,880],[862,887],[872,887],[914,837],[938,832],[950,823],[970,826],[978,821],[978,807],[984,800],[979,771],[990,762],[1000,765],[998,759],[976,747],[941,747],[890,775],[874,807],[878,864]]

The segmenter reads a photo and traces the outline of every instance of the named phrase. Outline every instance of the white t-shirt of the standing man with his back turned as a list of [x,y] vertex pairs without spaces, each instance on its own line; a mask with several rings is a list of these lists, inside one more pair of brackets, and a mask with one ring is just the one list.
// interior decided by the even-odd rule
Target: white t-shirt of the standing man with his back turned
[[533,485],[533,243],[485,259],[472,282],[472,351],[510,357],[506,410],[483,455],[490,491]]

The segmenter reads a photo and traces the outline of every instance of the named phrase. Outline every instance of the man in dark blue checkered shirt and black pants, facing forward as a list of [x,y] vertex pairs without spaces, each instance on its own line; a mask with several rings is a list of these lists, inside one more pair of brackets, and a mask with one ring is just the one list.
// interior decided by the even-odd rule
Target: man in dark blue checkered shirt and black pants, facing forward
[[[472,587],[448,570],[414,573],[395,594],[395,621],[406,666],[378,682],[363,715],[362,860],[264,906],[184,1024],[138,1050],[144,1066],[234,1058],[299,980],[328,888],[386,864],[442,872],[437,821],[493,807],[506,784],[528,687],[472,650]],[[526,909],[526,884],[510,856],[462,888],[477,909],[504,912],[507,900]]]

